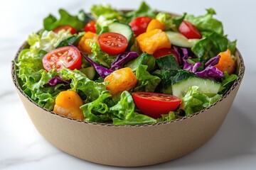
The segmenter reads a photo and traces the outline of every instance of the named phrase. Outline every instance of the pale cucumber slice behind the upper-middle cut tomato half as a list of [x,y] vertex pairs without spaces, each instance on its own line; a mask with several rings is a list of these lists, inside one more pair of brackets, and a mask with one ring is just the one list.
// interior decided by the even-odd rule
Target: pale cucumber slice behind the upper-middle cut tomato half
[[118,21],[114,23],[110,23],[109,31],[124,35],[124,37],[127,38],[129,44],[134,39],[132,28],[126,23],[119,23]]

